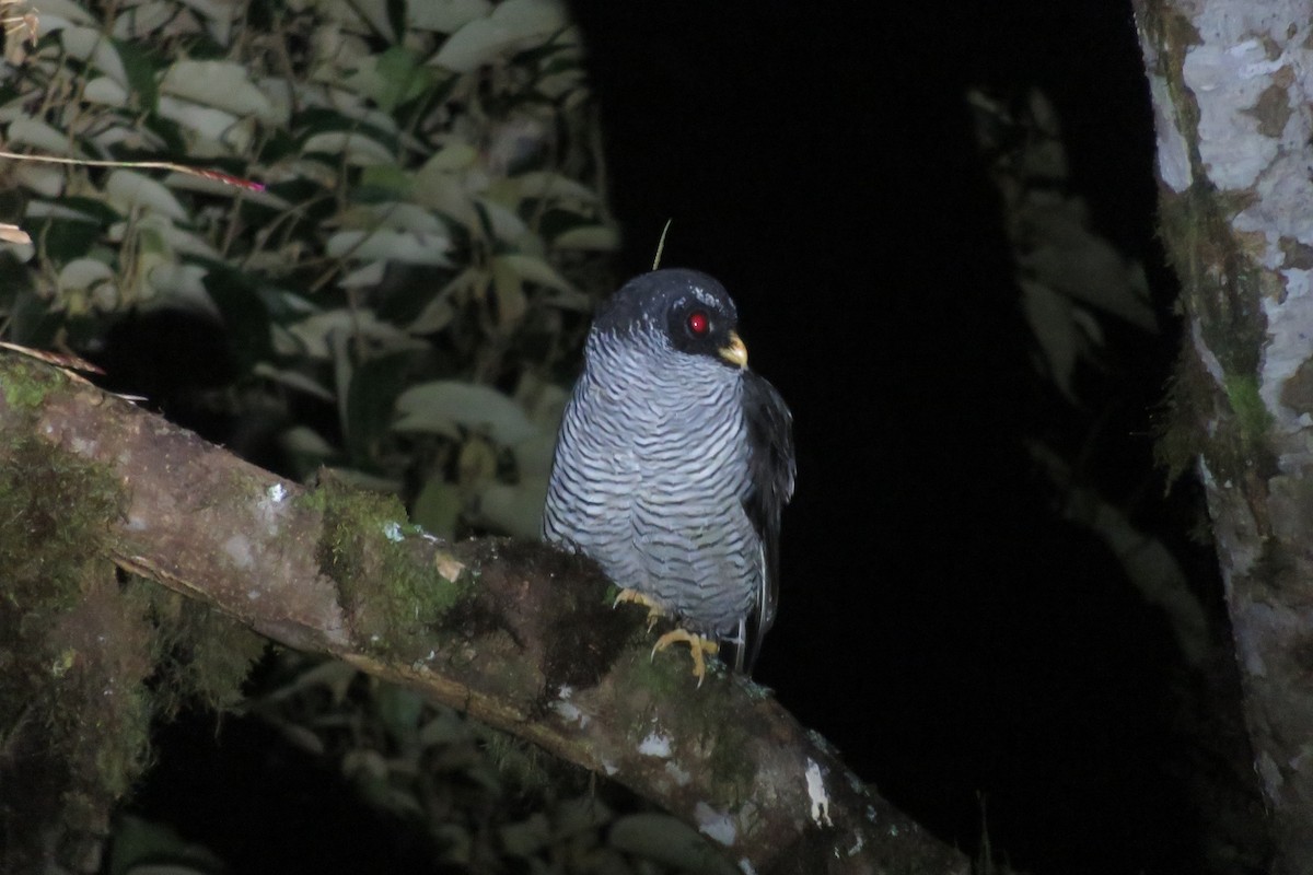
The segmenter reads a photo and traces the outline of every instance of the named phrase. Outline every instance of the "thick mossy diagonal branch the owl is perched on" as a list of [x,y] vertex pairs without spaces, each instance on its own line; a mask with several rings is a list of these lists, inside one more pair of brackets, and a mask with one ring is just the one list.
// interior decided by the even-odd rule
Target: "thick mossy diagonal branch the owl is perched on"
[[123,485],[105,543],[125,568],[611,775],[742,871],[969,870],[768,690],[650,660],[645,611],[612,610],[591,563],[440,542],[390,499],[282,481],[45,365],[4,356],[0,388],[7,446],[35,436]]

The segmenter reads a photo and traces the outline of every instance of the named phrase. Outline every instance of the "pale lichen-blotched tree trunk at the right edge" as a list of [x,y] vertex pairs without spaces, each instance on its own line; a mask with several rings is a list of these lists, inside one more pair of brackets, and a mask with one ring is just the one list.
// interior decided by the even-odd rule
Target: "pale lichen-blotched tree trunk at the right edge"
[[1313,872],[1313,3],[1137,0],[1201,474],[1274,871]]

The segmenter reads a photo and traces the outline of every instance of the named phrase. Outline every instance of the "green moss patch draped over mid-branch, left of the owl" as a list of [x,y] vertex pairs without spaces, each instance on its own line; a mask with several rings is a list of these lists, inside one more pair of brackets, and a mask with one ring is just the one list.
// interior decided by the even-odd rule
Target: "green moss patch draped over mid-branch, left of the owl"
[[298,499],[323,513],[320,569],[337,584],[358,644],[374,652],[423,649],[437,626],[470,592],[420,560],[416,531],[394,496],[353,489],[332,478]]

